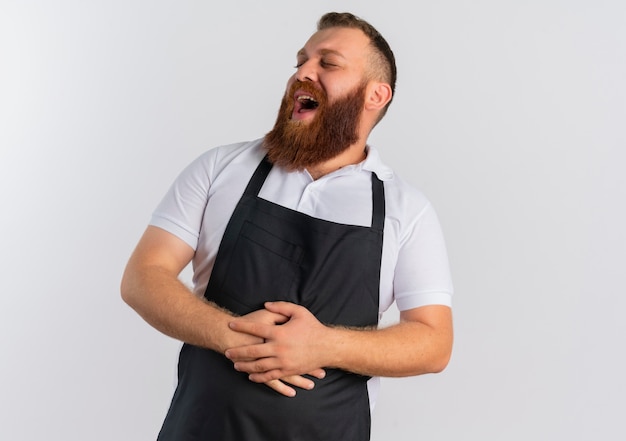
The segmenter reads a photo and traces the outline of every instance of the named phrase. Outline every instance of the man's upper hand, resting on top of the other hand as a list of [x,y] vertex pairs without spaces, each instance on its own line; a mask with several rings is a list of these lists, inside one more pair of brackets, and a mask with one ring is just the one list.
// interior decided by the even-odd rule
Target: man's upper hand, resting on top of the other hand
[[247,372],[250,380],[266,383],[294,375],[323,376],[325,344],[329,328],[303,306],[288,302],[268,302],[265,309],[288,317],[283,324],[265,324],[233,319],[229,326],[264,340],[263,343],[226,350],[235,369]]

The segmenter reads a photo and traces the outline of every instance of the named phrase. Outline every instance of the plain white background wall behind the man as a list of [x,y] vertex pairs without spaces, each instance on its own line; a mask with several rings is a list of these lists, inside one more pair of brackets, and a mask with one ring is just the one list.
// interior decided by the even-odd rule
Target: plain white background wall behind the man
[[269,130],[329,10],[396,53],[371,142],[456,288],[448,369],[384,381],[373,440],[625,438],[623,1],[4,0],[1,439],[155,438],[178,342],[123,267],[188,162]]

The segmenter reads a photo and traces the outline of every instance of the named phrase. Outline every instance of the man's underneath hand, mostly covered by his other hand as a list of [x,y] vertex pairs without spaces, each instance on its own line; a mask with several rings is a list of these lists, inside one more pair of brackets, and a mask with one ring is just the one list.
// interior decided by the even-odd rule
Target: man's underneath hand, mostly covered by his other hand
[[[289,318],[284,315],[274,313],[266,309],[259,309],[238,318],[238,320],[241,321],[249,323],[260,323],[265,325],[278,325],[281,323],[285,323],[288,319]],[[240,332],[232,332],[229,338],[229,344],[233,345],[233,347],[254,345],[259,343],[263,343],[262,338]],[[317,369],[310,372],[309,374],[318,379],[322,379],[326,376],[326,372],[323,369]],[[313,389],[313,387],[315,387],[315,383],[312,380],[302,377],[300,375],[292,375],[280,379],[270,380],[265,382],[265,384],[276,392],[287,397],[293,397],[296,395],[296,390],[288,386],[287,384],[291,384],[305,390],[311,390]]]

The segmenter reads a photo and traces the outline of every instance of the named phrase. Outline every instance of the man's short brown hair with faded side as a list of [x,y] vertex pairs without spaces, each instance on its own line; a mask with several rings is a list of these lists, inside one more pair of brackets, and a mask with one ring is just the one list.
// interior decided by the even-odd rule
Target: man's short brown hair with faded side
[[[370,39],[370,44],[374,49],[374,59],[372,60],[374,64],[374,74],[379,76],[380,80],[389,83],[389,86],[391,86],[391,97],[393,99],[398,74],[396,70],[396,58],[387,40],[383,38],[374,26],[349,12],[329,12],[324,14],[317,22],[318,31],[334,27],[360,29]],[[387,112],[387,108],[390,104],[391,100],[381,112],[380,118]]]

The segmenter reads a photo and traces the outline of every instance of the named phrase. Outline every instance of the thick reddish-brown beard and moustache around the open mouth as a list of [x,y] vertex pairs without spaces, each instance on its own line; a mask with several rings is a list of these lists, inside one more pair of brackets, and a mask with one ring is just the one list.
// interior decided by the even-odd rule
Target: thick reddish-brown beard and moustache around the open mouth
[[[308,82],[295,81],[283,97],[272,131],[265,135],[269,160],[288,170],[321,164],[344,152],[359,139],[359,120],[365,104],[366,84],[328,103],[325,94]],[[318,101],[311,121],[291,119],[294,93],[304,90]]]

